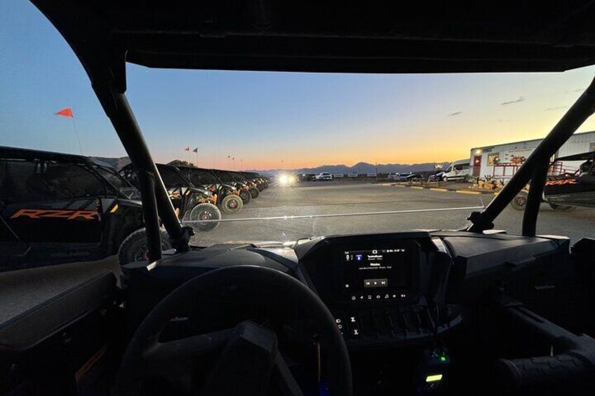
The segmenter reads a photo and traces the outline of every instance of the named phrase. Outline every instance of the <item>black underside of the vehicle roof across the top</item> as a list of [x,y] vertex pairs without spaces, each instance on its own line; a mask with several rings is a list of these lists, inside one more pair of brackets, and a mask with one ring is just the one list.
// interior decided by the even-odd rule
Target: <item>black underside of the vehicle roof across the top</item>
[[32,0],[90,74],[147,67],[330,72],[562,71],[595,63],[589,0]]

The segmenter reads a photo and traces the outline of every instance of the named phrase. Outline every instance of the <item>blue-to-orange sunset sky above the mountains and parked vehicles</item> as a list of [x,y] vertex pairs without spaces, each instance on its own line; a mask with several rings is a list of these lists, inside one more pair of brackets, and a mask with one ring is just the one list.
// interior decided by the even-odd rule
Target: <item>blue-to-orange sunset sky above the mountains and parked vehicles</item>
[[[356,75],[156,70],[128,65],[128,100],[154,158],[227,168],[422,163],[543,137],[595,76]],[[0,144],[125,156],[83,68],[28,1],[0,4]],[[595,119],[580,131],[595,130]],[[194,155],[192,161],[195,161]]]

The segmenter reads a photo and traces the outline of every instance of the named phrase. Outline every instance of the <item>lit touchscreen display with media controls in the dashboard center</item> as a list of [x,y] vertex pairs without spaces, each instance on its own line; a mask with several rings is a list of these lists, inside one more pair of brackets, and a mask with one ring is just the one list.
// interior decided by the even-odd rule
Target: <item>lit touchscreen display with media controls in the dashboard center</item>
[[375,292],[410,285],[412,252],[407,247],[343,251],[345,291]]

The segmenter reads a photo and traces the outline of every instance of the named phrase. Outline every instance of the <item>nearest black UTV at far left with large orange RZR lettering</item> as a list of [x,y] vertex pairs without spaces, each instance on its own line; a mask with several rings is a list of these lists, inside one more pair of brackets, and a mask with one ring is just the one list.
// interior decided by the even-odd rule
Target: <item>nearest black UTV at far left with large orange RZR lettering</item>
[[83,156],[0,147],[0,213],[0,271],[147,253],[138,191]]

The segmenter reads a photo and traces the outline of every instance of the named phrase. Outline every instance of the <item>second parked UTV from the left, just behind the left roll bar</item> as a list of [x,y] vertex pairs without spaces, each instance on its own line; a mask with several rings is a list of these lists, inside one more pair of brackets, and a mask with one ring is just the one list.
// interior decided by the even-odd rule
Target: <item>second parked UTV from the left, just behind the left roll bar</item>
[[[175,213],[178,214],[181,221],[192,221],[190,225],[199,231],[210,231],[219,226],[219,223],[215,221],[196,222],[221,219],[221,212],[216,206],[217,196],[215,194],[194,186],[175,166],[158,163],[156,167],[168,190]],[[120,175],[138,187],[138,179],[132,164],[122,168]]]

